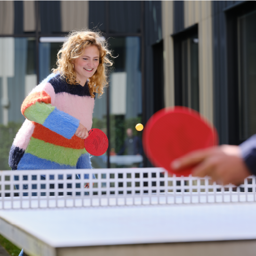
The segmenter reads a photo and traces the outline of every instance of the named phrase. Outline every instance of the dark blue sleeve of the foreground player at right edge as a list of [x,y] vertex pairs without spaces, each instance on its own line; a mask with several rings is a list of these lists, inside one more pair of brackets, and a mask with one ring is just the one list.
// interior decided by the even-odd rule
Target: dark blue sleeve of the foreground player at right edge
[[256,175],[256,134],[239,145],[245,164],[253,175]]

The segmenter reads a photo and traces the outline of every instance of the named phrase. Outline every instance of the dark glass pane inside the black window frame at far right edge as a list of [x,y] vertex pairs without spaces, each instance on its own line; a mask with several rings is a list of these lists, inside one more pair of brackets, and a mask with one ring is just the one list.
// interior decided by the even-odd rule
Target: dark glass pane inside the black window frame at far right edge
[[256,133],[256,11],[238,17],[239,139]]

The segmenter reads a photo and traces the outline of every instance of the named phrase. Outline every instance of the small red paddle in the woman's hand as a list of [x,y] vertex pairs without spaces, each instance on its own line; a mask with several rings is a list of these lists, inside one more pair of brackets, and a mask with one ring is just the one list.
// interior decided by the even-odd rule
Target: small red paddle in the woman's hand
[[109,147],[109,140],[107,140],[106,134],[100,129],[90,129],[88,131],[89,136],[85,139],[85,149],[93,156],[103,155],[107,147]]

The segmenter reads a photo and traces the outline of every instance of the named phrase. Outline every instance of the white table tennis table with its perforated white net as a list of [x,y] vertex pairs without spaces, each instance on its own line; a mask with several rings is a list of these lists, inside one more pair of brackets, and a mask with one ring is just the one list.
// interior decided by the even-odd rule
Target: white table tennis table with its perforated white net
[[255,177],[235,188],[160,168],[71,171],[0,172],[0,233],[26,254],[256,254]]

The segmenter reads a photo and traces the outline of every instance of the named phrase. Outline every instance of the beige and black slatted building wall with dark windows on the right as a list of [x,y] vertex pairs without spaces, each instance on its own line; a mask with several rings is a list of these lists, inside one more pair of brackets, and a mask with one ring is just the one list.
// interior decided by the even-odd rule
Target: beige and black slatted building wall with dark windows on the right
[[220,144],[256,133],[256,1],[163,0],[165,105],[185,105]]

